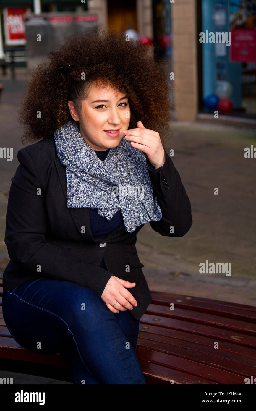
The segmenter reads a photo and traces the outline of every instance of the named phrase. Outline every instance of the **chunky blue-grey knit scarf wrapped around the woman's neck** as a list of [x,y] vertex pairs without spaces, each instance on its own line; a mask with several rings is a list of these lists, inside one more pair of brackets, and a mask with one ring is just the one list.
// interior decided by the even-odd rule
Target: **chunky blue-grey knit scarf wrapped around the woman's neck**
[[57,156],[66,166],[67,207],[97,208],[108,221],[121,209],[130,233],[141,224],[161,219],[145,155],[125,136],[104,161],[85,142],[74,120],[55,131],[54,141]]

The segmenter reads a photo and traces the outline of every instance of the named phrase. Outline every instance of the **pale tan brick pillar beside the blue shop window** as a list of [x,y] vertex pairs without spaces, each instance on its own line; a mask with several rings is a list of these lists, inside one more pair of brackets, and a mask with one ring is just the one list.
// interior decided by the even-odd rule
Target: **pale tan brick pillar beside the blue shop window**
[[172,7],[173,72],[176,120],[198,113],[196,0],[175,0]]

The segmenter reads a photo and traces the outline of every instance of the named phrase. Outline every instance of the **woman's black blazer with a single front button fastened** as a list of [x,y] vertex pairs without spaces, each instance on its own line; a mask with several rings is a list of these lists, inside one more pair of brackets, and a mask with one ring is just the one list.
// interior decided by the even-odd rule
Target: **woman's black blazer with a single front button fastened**
[[[150,225],[161,236],[182,237],[192,217],[180,175],[166,152],[164,165],[155,170],[145,157],[162,212],[161,220]],[[57,157],[53,136],[21,148],[18,161],[7,206],[5,244],[11,261],[3,273],[3,291],[45,277],[89,287],[101,296],[115,275],[136,283],[128,289],[138,302],[130,312],[140,319],[152,300],[135,247],[144,224],[132,233],[123,224],[104,240],[94,238],[89,209],[67,208],[66,166]],[[107,270],[99,267],[102,257]]]

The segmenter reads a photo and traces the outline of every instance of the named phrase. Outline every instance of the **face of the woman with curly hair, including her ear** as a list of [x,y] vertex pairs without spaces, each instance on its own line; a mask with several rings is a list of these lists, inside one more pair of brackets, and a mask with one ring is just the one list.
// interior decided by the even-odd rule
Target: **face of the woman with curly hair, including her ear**
[[[88,98],[81,104],[81,111],[77,113],[74,103],[68,102],[70,114],[79,121],[78,128],[86,143],[99,151],[117,147],[124,136],[123,130],[128,129],[130,122],[127,96],[110,85],[97,86],[93,83]],[[117,132],[110,133],[109,130]]]

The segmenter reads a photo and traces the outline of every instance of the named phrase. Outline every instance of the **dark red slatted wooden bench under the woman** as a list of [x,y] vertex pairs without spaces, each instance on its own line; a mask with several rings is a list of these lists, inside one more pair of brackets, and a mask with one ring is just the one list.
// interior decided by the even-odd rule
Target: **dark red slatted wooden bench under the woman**
[[[148,384],[244,385],[245,378],[256,377],[256,307],[159,291],[151,294],[136,350]],[[216,342],[219,348],[214,348]],[[5,325],[2,307],[0,369],[72,382],[60,354],[33,353],[17,344]]]

